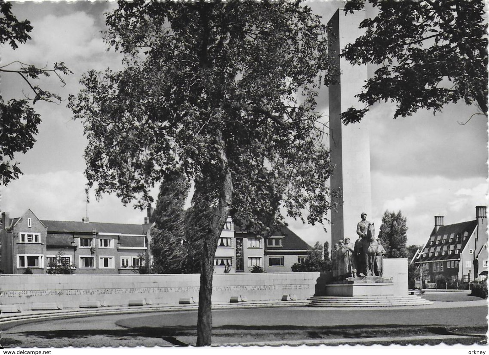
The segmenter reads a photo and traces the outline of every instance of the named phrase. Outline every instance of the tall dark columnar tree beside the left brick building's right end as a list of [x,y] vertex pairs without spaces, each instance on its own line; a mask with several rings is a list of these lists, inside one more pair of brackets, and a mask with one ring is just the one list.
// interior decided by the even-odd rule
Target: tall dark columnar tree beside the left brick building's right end
[[150,249],[153,255],[151,271],[154,273],[184,273],[186,254],[184,247],[185,200],[190,183],[182,171],[164,176],[159,188],[152,220]]

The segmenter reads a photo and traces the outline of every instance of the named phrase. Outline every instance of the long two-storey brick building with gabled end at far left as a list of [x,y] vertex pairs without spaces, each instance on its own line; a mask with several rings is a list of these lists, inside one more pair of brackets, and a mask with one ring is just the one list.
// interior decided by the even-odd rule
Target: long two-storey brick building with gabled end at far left
[[[147,221],[145,221],[147,222]],[[2,212],[2,273],[46,273],[62,251],[77,274],[133,273],[149,259],[152,224],[44,221],[28,209],[21,217]]]

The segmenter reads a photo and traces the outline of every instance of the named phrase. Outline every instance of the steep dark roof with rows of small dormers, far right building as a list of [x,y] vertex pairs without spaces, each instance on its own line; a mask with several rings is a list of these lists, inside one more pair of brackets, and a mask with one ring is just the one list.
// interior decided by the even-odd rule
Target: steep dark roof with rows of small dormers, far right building
[[[423,252],[426,253],[426,255],[422,256],[422,261],[459,259],[460,252],[467,244],[469,237],[476,227],[477,221],[475,220],[441,226],[438,230],[433,230],[423,248]],[[466,237],[465,240],[463,238],[464,236]],[[457,237],[459,238],[458,241]],[[433,244],[430,244],[431,242],[433,242]],[[458,253],[455,253],[457,250]],[[445,251],[445,254],[443,254],[442,251]],[[429,256],[429,253],[433,254]],[[419,259],[417,261],[419,261]]]

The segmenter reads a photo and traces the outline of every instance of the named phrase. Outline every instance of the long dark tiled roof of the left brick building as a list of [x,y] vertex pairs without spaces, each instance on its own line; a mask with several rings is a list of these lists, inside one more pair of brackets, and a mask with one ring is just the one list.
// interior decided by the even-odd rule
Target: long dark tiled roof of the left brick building
[[104,223],[104,222],[73,222],[73,221],[41,221],[47,227],[47,232],[65,233],[99,233],[146,234],[140,224]]

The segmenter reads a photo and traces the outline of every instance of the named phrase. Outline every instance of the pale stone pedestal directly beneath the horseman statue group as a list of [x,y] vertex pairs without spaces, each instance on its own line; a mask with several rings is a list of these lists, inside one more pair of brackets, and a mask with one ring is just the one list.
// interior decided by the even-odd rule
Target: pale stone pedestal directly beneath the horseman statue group
[[394,281],[380,276],[349,277],[345,281],[326,284],[327,296],[387,296],[394,295]]

